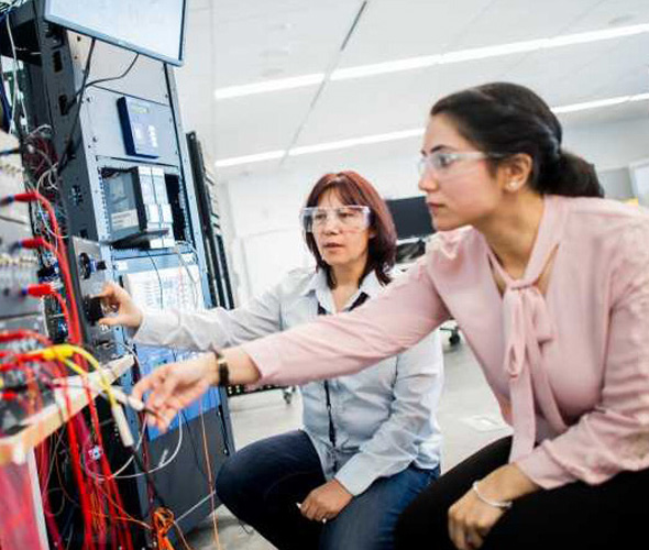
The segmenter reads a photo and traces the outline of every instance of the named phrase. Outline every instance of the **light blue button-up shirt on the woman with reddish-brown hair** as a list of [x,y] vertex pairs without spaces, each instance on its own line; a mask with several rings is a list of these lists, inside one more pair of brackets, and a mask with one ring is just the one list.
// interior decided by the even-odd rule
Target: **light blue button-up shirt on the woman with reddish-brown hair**
[[[371,299],[381,290],[381,283],[371,273],[344,310],[361,293]],[[324,272],[295,270],[271,290],[233,310],[145,312],[135,341],[197,351],[239,345],[315,320],[318,304],[328,314],[336,311]],[[304,430],[318,452],[326,477],[336,477],[351,494],[359,495],[378,477],[394,475],[410,464],[438,466],[441,433],[436,411],[442,384],[443,359],[437,332],[404,353],[329,381],[336,448],[329,439],[323,383],[301,386]]]

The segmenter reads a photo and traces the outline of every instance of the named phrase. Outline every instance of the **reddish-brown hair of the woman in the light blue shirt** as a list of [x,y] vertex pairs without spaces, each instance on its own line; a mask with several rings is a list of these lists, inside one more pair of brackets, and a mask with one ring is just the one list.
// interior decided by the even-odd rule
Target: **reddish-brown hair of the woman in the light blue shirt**
[[[363,176],[355,172],[345,170],[339,172],[338,174],[324,174],[318,179],[307,197],[305,206],[318,206],[320,197],[328,191],[336,191],[344,205],[370,207],[370,229],[374,230],[375,235],[370,239],[367,263],[361,280],[373,271],[376,273],[376,277],[381,284],[386,285],[392,280],[389,270],[395,263],[397,250],[397,232],[387,205],[381,198],[374,186]],[[314,234],[305,232],[305,240],[311,254],[316,257],[318,268],[324,270],[327,284],[330,288],[336,288],[336,278],[333,277],[331,266],[322,260]],[[359,280],[359,284],[361,280]]]

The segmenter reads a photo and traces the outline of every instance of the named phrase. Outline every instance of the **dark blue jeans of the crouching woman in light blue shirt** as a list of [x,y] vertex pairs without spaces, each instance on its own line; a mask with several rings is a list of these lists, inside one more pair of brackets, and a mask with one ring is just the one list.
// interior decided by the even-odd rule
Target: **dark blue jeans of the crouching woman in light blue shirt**
[[402,510],[439,475],[409,466],[376,480],[331,521],[301,516],[301,503],[327,480],[302,431],[252,443],[226,461],[217,477],[221,502],[279,550],[392,550]]

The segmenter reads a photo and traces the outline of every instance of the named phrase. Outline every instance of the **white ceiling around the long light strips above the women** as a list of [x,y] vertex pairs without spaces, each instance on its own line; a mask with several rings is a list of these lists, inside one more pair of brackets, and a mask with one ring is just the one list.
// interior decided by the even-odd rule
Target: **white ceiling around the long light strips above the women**
[[[648,0],[370,0],[340,53],[361,3],[189,0],[186,64],[177,70],[180,105],[186,129],[198,132],[212,160],[419,128],[436,99],[490,80],[530,86],[551,106],[649,91],[645,33],[328,81],[317,101],[318,86],[216,100],[215,90],[227,86],[649,23]],[[648,114],[645,101],[561,119],[584,124]],[[411,140],[404,146],[417,148]],[[381,155],[382,147],[366,146],[362,154]],[[264,170],[278,163],[244,169]],[[220,174],[229,178],[241,169],[222,168]]]

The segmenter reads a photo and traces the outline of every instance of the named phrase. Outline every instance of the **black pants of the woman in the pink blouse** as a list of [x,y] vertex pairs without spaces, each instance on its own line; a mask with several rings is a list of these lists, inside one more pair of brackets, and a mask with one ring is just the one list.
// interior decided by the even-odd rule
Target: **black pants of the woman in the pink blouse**
[[[507,463],[512,438],[485,447],[442,475],[402,514],[396,549],[454,550],[448,510],[473,484]],[[576,482],[518,498],[486,537],[484,550],[649,548],[649,470],[601,485]],[[632,540],[623,543],[622,539]],[[424,542],[426,541],[426,542]]]

